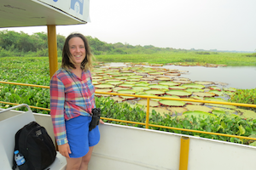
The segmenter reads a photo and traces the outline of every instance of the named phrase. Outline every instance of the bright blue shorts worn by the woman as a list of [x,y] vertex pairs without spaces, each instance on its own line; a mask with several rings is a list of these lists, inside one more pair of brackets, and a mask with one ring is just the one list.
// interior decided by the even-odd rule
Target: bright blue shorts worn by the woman
[[67,141],[71,150],[72,158],[85,156],[90,146],[100,141],[99,127],[89,131],[91,116],[78,116],[66,121]]

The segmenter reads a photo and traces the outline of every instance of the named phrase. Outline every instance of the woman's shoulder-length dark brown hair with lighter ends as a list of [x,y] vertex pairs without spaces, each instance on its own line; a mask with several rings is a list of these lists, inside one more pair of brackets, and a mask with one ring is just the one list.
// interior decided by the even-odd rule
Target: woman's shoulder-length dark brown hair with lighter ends
[[80,33],[72,33],[66,38],[66,41],[64,43],[64,47],[63,47],[63,50],[62,50],[61,68],[65,69],[65,70],[76,68],[75,65],[74,65],[73,60],[71,59],[71,54],[70,54],[69,46],[68,46],[69,40],[73,37],[80,37],[84,42],[85,58],[81,63],[81,69],[83,71],[87,71],[87,70],[91,71],[91,69],[92,69],[92,58],[94,58],[94,56],[90,52],[90,46],[89,46],[89,43],[88,43],[86,37],[84,37],[84,35],[82,35]]

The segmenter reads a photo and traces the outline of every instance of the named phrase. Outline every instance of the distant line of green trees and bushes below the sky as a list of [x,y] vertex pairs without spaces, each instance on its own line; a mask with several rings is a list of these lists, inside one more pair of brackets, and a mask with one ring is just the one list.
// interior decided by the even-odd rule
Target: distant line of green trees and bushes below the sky
[[[0,31],[0,57],[8,56],[48,56],[47,33],[37,32],[28,35],[22,31]],[[102,42],[96,37],[87,36],[90,48],[93,54],[154,54],[166,53],[170,51],[186,51],[185,49],[175,48],[157,48],[153,45],[132,46],[128,43],[107,43]],[[57,35],[58,56],[61,51],[66,37]]]

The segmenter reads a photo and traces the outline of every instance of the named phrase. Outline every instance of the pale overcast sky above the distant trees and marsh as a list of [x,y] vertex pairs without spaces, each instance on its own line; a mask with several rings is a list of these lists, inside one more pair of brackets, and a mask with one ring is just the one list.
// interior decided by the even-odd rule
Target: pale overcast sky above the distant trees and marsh
[[[56,31],[133,46],[254,51],[255,8],[256,0],[90,0],[90,23]],[[8,30],[32,34],[47,27]]]

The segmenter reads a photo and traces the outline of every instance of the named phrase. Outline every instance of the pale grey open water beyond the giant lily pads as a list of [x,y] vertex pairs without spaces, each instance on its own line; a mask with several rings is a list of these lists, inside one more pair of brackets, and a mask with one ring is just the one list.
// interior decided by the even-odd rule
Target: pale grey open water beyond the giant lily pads
[[[124,63],[109,63],[110,66],[127,66]],[[225,88],[256,88],[255,66],[227,66],[227,67],[204,67],[204,66],[177,66],[164,65],[161,68],[189,71],[180,77],[189,78],[191,81],[209,81],[227,83]]]

